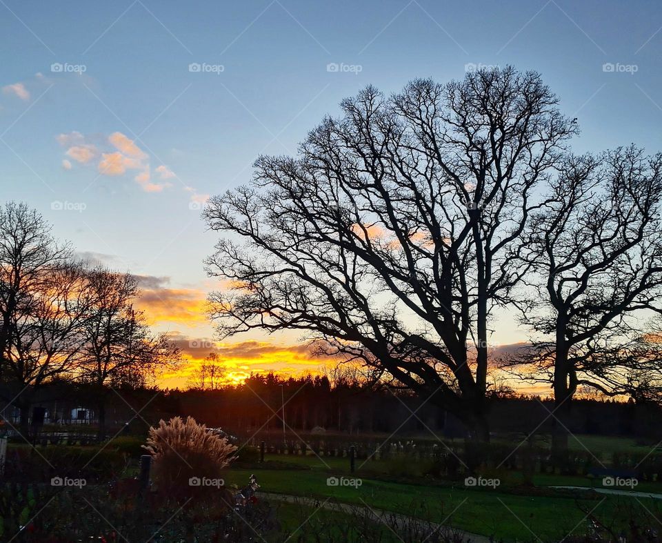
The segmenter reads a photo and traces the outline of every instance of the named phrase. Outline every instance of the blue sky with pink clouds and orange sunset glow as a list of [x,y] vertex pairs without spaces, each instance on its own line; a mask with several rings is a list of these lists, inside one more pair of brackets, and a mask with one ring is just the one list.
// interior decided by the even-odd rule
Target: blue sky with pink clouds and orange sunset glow
[[[662,149],[659,1],[39,3],[0,0],[0,187],[81,256],[143,276],[140,302],[188,358],[212,346],[200,210],[294,155],[339,102],[372,84],[536,70],[577,117],[577,152]],[[492,344],[525,341],[499,315]],[[297,336],[214,344],[234,375],[322,364]],[[165,386],[183,384],[180,375]]]

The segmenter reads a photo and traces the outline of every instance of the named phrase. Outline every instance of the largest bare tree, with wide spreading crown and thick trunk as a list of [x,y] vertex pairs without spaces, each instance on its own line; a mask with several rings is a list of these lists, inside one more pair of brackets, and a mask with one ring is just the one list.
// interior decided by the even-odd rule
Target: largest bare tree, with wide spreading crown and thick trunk
[[[457,413],[489,439],[488,324],[526,268],[532,193],[574,123],[533,72],[482,70],[341,104],[299,157],[260,157],[252,186],[205,208],[221,335],[302,330]],[[468,359],[468,345],[477,351]]]

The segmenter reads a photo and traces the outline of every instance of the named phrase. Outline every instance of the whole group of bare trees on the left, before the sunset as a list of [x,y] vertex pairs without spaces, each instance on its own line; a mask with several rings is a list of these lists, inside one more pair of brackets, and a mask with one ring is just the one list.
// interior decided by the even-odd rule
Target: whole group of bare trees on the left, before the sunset
[[145,386],[179,351],[134,310],[137,277],[81,261],[50,230],[25,204],[0,208],[0,398],[27,435],[40,398],[84,385],[103,434],[108,387]]

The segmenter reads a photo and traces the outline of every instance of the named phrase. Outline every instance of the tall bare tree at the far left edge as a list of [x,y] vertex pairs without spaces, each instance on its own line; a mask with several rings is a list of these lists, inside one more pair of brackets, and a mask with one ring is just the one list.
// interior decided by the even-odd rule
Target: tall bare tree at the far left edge
[[83,266],[71,257],[35,210],[14,202],[0,209],[0,379],[23,432],[34,390],[74,365],[90,297]]

